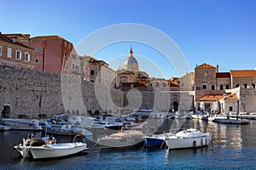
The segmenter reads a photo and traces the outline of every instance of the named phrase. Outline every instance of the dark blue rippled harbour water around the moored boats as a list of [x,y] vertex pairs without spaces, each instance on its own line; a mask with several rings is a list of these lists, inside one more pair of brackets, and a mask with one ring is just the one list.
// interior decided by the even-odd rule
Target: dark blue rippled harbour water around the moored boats
[[[152,120],[154,122],[154,120]],[[156,120],[155,120],[156,121]],[[165,131],[172,120],[158,128]],[[58,159],[23,159],[14,150],[27,131],[0,132],[0,169],[253,169],[256,167],[256,120],[247,125],[187,120],[184,128],[212,132],[212,144],[205,148],[166,150],[136,146],[124,149],[91,149],[86,153]],[[34,133],[41,135],[41,133]],[[61,142],[72,140],[60,137]],[[86,139],[87,141],[88,139]],[[92,147],[90,140],[87,141]]]

